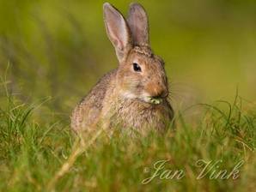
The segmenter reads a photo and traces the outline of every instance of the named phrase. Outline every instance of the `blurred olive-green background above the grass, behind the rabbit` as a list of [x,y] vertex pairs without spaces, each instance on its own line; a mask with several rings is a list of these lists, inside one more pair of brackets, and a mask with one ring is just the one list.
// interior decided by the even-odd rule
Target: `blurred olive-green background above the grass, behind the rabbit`
[[[109,1],[126,15],[131,1]],[[137,1],[166,62],[174,105],[256,99],[256,3],[248,0]],[[40,112],[70,117],[89,88],[117,66],[102,20],[104,1],[0,0],[0,75]],[[0,90],[3,94],[3,89]],[[1,100],[0,100],[1,101]]]

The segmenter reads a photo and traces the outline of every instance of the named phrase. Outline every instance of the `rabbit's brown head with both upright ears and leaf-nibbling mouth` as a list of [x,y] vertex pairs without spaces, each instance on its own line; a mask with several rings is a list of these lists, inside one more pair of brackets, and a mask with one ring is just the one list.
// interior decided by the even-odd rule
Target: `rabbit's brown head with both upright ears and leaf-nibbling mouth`
[[149,46],[149,23],[143,7],[131,3],[128,19],[111,4],[104,3],[104,21],[119,68],[117,81],[120,93],[129,99],[160,104],[168,97],[168,79],[162,58]]

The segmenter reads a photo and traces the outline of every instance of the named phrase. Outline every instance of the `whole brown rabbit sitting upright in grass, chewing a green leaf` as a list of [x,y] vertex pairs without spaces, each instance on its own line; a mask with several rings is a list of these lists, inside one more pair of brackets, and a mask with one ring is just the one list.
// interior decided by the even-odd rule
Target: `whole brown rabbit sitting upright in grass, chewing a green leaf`
[[107,35],[119,60],[118,69],[104,75],[76,106],[71,127],[76,131],[101,127],[145,132],[168,129],[174,111],[168,102],[168,78],[162,58],[149,46],[149,24],[143,7],[131,3],[128,19],[104,3]]

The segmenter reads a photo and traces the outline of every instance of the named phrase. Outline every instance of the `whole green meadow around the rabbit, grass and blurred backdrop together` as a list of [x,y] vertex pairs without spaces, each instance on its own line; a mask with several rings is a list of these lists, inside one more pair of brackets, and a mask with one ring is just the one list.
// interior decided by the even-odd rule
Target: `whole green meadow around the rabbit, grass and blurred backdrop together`
[[103,1],[0,1],[0,191],[256,189],[256,3],[139,2],[176,126],[83,138],[71,111],[117,66]]

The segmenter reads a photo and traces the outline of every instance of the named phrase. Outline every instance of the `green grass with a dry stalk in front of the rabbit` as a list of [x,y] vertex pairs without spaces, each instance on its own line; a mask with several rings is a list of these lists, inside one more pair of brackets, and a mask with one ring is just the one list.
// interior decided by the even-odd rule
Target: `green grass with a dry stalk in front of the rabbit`
[[[193,123],[183,117],[186,111],[177,112],[177,128],[164,136],[108,138],[99,133],[82,139],[57,119],[37,123],[33,114],[40,104],[27,105],[7,89],[5,93],[0,108],[1,191],[253,191],[256,187],[256,106],[238,96],[232,105],[216,101],[192,106],[189,110],[203,109]],[[222,162],[214,169],[209,166],[208,174],[197,179],[203,170],[197,166],[200,159]],[[143,184],[160,160],[167,162],[159,175]],[[238,178],[209,178],[217,171],[232,171],[241,160]],[[185,176],[167,179],[170,170],[182,170]]]

